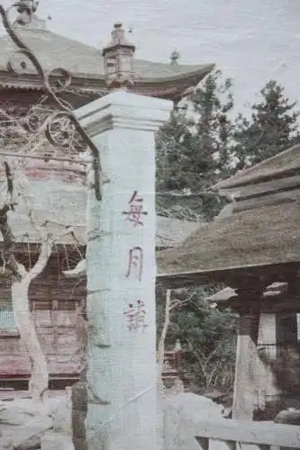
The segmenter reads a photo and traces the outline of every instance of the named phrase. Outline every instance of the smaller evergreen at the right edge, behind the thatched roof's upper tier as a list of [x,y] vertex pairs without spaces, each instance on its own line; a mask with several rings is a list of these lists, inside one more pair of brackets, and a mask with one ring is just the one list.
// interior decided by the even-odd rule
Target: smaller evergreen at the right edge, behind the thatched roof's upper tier
[[272,157],[299,140],[295,102],[291,103],[284,88],[275,80],[260,91],[260,103],[251,106],[251,117],[239,115],[233,133],[232,158],[235,170]]

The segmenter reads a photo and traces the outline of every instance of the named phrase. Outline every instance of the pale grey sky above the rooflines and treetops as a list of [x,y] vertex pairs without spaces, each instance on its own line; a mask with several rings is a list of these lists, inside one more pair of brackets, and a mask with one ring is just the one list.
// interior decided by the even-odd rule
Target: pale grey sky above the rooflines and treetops
[[270,78],[300,100],[298,0],[41,0],[48,14],[51,31],[95,47],[120,21],[139,58],[167,62],[177,48],[182,63],[214,62],[233,78],[240,109]]

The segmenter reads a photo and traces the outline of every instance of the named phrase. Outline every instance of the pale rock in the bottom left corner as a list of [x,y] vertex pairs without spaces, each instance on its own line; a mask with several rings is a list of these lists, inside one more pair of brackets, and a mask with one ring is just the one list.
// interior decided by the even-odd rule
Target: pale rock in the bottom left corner
[[52,428],[50,418],[39,418],[27,421],[20,427],[6,426],[2,429],[0,438],[1,450],[32,450],[41,445],[41,437],[45,431]]

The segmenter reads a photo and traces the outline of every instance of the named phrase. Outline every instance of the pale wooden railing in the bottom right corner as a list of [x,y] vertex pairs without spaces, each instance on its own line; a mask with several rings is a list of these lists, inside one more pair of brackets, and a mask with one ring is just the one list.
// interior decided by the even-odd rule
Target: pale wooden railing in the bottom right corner
[[300,448],[300,427],[249,420],[205,420],[195,436],[202,450]]

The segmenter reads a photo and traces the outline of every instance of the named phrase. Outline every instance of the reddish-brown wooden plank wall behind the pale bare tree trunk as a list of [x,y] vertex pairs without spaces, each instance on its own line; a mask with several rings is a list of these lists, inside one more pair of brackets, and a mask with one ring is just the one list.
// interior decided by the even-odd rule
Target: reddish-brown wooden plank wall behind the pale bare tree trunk
[[[59,275],[62,267],[58,266],[58,256],[54,255],[43,274],[32,282],[29,291],[32,320],[48,360],[50,376],[76,376],[80,371],[80,344],[75,307],[77,302],[86,301],[86,280],[62,278]],[[10,282],[6,280],[0,284],[0,308],[5,309],[10,299]],[[2,329],[0,379],[29,376],[30,362],[20,338],[12,330],[5,336]]]

